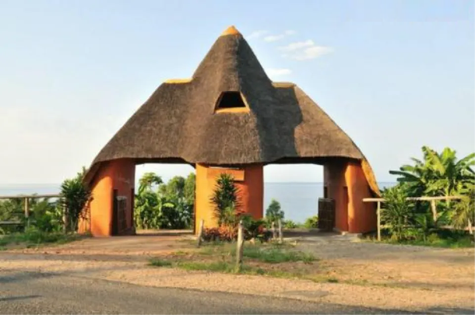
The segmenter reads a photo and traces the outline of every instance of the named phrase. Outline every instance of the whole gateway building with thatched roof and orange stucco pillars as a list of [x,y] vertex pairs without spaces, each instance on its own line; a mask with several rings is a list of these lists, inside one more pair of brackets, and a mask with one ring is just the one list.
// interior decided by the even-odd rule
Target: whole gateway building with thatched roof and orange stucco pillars
[[196,169],[195,222],[213,226],[209,196],[220,173],[232,173],[243,209],[263,215],[263,167],[324,165],[325,197],[335,200],[335,227],[375,228],[378,194],[364,155],[293,83],[272,82],[242,35],[228,28],[190,79],[169,80],[99,152],[86,176],[93,191],[93,235],[133,232],[135,166],[188,163]]

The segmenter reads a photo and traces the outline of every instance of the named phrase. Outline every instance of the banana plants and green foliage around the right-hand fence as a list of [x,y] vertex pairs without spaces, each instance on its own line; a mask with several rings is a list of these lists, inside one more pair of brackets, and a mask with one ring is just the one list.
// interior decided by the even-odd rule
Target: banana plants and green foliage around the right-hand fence
[[[390,234],[401,239],[412,230],[425,241],[430,232],[450,224],[461,229],[469,226],[473,233],[475,153],[458,159],[456,151],[450,148],[439,153],[423,146],[422,152],[422,160],[412,158],[413,165],[403,165],[399,171],[389,172],[398,176],[398,185],[382,193],[386,201],[381,218],[390,226]],[[406,197],[421,196],[461,196],[462,200],[438,202],[434,220],[428,202],[412,204],[405,200]]]

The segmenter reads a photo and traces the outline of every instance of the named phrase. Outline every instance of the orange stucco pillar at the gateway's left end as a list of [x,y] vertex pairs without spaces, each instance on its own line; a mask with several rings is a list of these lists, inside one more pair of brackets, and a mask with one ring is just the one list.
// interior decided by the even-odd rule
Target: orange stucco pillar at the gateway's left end
[[[93,236],[112,235],[113,193],[126,197],[126,231],[133,228],[133,193],[135,188],[135,162],[131,159],[118,159],[102,163],[91,184],[92,201],[89,205],[89,229]],[[80,226],[86,226],[80,223]],[[84,227],[83,227],[84,229]]]

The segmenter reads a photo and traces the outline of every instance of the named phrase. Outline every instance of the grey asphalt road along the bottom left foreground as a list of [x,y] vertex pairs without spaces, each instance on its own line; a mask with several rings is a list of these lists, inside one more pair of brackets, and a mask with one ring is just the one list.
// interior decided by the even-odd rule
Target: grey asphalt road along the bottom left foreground
[[[206,285],[203,283],[203,285]],[[349,294],[351,294],[349,292]],[[0,270],[0,314],[410,314],[241,294]]]

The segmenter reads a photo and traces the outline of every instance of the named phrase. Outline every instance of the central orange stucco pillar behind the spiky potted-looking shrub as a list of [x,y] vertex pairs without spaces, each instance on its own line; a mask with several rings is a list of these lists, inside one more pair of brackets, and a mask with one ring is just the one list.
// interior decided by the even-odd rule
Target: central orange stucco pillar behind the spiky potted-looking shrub
[[249,165],[240,169],[227,169],[196,164],[195,230],[201,219],[205,227],[217,227],[214,205],[210,202],[220,174],[233,176],[239,191],[241,210],[254,219],[261,219],[264,212],[264,173],[262,165]]

